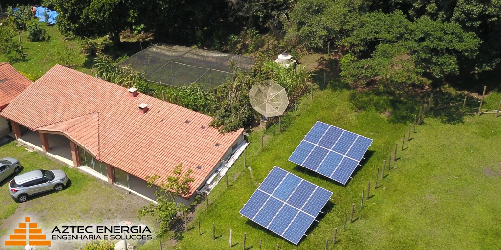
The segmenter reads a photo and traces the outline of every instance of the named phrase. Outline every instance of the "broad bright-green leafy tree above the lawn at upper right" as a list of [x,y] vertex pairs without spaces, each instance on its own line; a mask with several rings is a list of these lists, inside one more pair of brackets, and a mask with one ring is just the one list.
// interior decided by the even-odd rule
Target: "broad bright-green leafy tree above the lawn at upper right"
[[[359,85],[422,85],[424,76],[443,79],[457,74],[460,58],[474,58],[480,40],[457,23],[426,16],[408,21],[401,11],[370,12],[360,18],[343,43],[351,52],[341,60],[341,76]],[[390,84],[391,83],[391,84]]]

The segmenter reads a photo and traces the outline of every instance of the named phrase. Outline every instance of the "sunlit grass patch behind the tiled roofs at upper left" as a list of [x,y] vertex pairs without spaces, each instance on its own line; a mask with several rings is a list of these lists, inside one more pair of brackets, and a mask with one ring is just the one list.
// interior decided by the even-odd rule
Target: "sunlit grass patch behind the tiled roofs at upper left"
[[[64,40],[66,36],[59,32],[57,26],[47,26],[45,23],[40,23],[40,25],[47,30],[51,36],[50,40],[32,42],[28,40],[27,32],[22,32],[21,40],[23,52],[27,54],[26,60],[12,63],[12,66],[27,75],[32,80],[38,79],[57,63],[63,63],[58,61],[53,54],[64,49],[69,49],[71,50],[70,54],[73,57],[72,61],[74,61],[75,69],[91,74],[91,67],[93,63],[89,63],[88,61],[86,63],[87,56],[81,53],[82,45],[80,38],[71,37]],[[14,38],[15,41],[18,42],[17,33]],[[0,62],[4,61],[7,61],[7,57],[0,54]]]

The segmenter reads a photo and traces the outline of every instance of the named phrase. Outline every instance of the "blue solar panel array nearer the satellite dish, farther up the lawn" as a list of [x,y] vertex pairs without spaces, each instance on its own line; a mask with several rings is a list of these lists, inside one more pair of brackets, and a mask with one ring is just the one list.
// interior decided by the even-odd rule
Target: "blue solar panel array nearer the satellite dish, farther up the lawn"
[[346,184],[372,139],[317,121],[289,160]]

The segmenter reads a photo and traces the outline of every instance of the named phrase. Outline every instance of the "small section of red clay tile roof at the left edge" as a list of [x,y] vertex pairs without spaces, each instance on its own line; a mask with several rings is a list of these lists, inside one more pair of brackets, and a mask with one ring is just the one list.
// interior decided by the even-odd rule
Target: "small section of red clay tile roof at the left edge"
[[9,63],[0,63],[0,110],[4,109],[12,99],[32,83]]

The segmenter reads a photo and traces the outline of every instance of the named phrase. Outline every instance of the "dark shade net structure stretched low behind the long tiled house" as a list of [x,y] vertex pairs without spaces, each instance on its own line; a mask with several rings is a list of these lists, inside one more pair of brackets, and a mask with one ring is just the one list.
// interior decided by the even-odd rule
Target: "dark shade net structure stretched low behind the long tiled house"
[[246,56],[198,48],[155,44],[120,63],[142,71],[150,82],[169,86],[199,83],[205,89],[217,86],[232,75],[231,63],[249,71],[254,59]]

